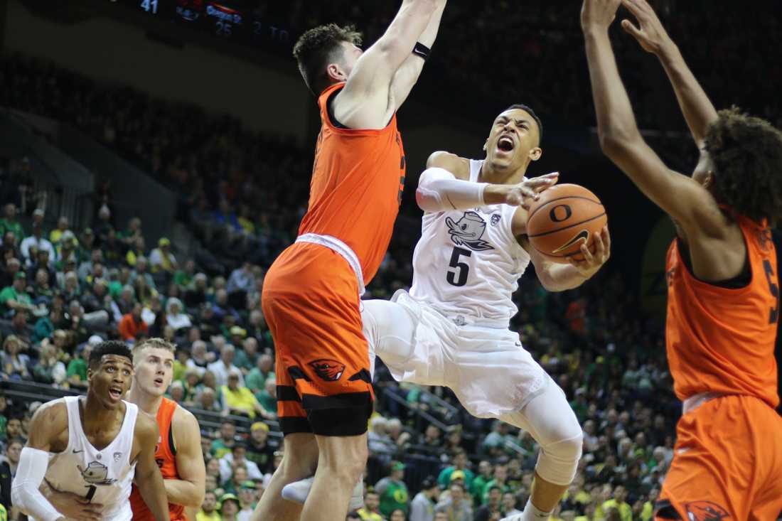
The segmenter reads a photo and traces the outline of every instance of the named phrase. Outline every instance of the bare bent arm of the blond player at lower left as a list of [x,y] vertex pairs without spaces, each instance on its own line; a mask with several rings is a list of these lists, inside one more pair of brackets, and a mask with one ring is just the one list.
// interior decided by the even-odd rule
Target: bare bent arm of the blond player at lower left
[[178,408],[171,422],[177,448],[178,480],[163,480],[170,503],[199,507],[203,503],[206,469],[201,452],[201,429],[190,411]]

